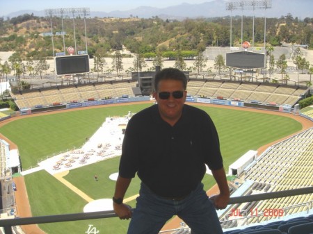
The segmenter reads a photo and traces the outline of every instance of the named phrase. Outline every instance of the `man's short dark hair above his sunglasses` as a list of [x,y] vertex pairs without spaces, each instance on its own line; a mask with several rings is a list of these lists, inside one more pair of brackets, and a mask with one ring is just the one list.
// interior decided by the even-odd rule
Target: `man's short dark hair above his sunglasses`
[[184,90],[187,89],[187,78],[184,72],[180,71],[177,68],[165,68],[161,71],[157,72],[154,76],[154,91],[157,92],[158,85],[160,81],[163,80],[175,80],[175,81],[182,81],[182,85]]

